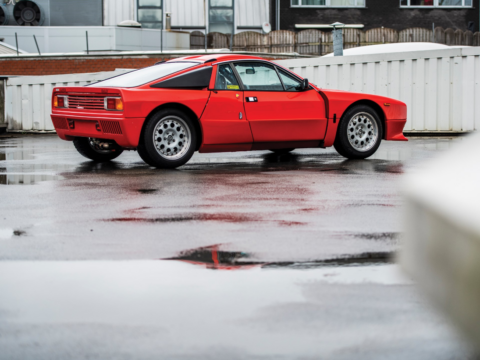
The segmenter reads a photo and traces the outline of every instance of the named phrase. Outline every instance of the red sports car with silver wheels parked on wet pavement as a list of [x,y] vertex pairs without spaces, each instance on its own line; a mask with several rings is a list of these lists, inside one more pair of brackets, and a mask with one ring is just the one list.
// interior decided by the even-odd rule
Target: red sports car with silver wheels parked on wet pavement
[[325,90],[259,57],[188,56],[84,87],[55,87],[52,121],[80,154],[108,161],[137,149],[151,166],[176,168],[195,151],[334,146],[371,156],[403,136],[400,101]]

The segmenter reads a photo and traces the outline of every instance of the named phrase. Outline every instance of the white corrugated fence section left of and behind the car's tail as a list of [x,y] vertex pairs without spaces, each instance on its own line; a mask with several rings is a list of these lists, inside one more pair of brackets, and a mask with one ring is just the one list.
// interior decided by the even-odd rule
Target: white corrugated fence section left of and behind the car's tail
[[8,130],[55,130],[50,118],[52,90],[55,86],[83,86],[126,71],[131,69],[89,74],[9,78],[6,81],[5,92],[5,119]]

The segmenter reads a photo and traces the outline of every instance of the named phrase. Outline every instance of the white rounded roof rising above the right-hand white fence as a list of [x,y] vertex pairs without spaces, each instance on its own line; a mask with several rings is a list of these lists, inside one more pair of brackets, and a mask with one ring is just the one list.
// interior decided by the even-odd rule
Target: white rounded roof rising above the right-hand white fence
[[[385,53],[421,51],[421,50],[442,50],[445,48],[456,48],[456,47],[463,47],[463,46],[448,46],[444,44],[421,43],[421,42],[381,44],[381,45],[360,46],[352,49],[344,49],[343,56],[385,54]],[[325,55],[324,57],[330,57],[330,56],[333,56],[333,54],[328,54],[328,55]]]

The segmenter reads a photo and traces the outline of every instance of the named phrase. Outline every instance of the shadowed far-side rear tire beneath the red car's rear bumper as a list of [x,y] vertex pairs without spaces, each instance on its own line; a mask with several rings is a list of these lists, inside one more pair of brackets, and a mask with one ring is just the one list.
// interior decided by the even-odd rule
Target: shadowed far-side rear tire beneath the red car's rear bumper
[[123,152],[123,148],[111,140],[77,137],[73,145],[81,155],[97,162],[113,160]]

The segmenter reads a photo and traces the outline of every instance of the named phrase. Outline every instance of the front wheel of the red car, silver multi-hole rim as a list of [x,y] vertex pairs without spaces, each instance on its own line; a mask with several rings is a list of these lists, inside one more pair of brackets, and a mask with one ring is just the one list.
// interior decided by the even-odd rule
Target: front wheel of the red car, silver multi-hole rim
[[342,116],[333,146],[348,159],[365,159],[377,151],[382,136],[377,112],[368,105],[357,105]]

